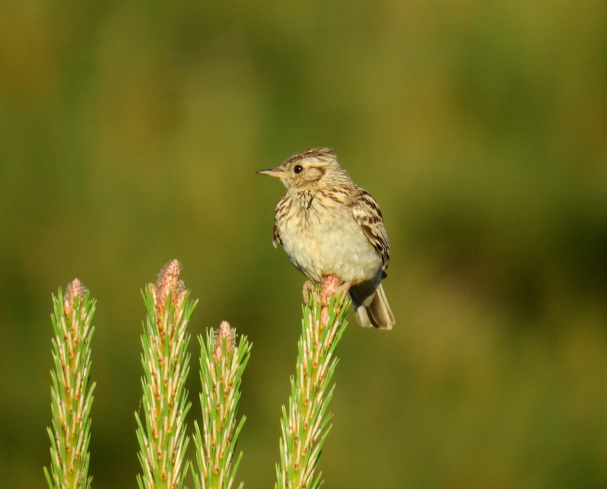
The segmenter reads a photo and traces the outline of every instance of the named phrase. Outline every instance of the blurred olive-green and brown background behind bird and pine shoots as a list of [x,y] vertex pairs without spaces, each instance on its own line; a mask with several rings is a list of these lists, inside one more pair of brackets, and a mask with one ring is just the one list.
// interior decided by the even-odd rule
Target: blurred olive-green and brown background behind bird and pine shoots
[[382,207],[397,320],[350,316],[325,487],[607,486],[604,0],[32,0],[0,16],[3,487],[46,485],[75,277],[93,485],[136,487],[140,290],[174,258],[191,332],[253,342],[239,476],[273,487],[304,277],[255,171],[314,146]]

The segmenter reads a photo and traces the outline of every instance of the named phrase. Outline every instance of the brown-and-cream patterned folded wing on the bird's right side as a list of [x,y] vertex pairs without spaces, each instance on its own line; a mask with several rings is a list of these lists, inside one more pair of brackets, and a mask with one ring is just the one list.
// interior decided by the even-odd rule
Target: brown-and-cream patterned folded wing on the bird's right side
[[381,256],[382,268],[385,270],[390,261],[390,241],[379,205],[364,188],[358,187],[356,190],[348,202],[348,207],[354,221],[358,222],[371,245]]

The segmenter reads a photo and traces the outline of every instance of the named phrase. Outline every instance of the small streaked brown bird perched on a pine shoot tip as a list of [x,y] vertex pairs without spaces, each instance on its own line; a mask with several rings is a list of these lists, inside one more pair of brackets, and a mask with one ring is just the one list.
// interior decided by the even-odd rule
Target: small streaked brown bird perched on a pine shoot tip
[[358,324],[392,329],[394,316],[381,285],[390,259],[381,211],[339,166],[333,150],[308,149],[257,173],[278,177],[287,187],[276,205],[274,247],[282,244],[314,282],[327,275],[341,279]]

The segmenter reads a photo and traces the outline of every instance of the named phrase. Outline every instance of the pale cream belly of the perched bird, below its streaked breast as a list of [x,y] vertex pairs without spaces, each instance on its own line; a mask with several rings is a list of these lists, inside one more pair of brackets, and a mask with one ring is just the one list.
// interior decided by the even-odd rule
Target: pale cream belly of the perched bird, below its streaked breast
[[361,227],[347,210],[333,217],[320,222],[313,215],[306,221],[280,223],[280,239],[291,262],[316,282],[325,275],[337,275],[344,282],[375,278],[381,258]]

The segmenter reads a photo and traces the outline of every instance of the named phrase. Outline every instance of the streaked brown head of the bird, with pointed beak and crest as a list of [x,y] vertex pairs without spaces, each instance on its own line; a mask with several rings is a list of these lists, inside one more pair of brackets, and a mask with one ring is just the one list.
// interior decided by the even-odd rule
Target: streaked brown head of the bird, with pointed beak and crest
[[276,168],[257,173],[278,177],[287,190],[304,190],[336,177],[349,180],[347,172],[339,166],[330,148],[314,148],[291,156]]

